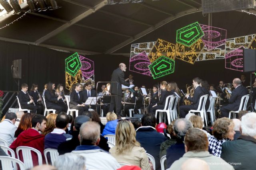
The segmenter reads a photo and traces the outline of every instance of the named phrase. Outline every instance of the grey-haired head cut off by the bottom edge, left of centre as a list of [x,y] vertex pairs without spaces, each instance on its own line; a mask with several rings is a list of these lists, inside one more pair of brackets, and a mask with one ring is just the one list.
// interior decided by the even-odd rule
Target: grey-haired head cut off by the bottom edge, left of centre
[[66,153],[56,158],[54,166],[57,170],[86,170],[84,156]]

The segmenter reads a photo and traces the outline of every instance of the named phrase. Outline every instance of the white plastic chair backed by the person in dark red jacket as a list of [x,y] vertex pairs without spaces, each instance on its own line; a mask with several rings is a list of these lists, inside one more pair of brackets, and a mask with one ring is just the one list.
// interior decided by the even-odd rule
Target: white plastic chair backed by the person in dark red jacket
[[19,151],[22,152],[22,158],[23,158],[23,162],[24,162],[24,165],[25,165],[26,169],[30,169],[30,168],[34,167],[31,152],[35,152],[37,154],[38,164],[39,165],[43,164],[42,154],[39,150],[34,149],[32,147],[17,147],[16,148],[16,154],[17,154],[17,158],[20,160]]

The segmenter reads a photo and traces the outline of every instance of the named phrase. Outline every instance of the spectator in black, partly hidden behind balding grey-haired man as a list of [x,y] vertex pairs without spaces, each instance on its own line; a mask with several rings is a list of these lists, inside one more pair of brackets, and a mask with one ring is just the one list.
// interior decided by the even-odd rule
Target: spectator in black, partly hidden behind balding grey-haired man
[[[72,131],[72,139],[69,141],[63,142],[58,146],[59,154],[72,152],[72,150],[75,150],[76,147],[80,145],[80,141],[78,139],[80,127],[83,123],[87,121],[90,121],[90,118],[85,115],[80,115],[75,118],[74,126],[73,126],[74,131]],[[100,135],[100,143],[98,147],[106,151],[109,150],[107,140],[102,135]]]

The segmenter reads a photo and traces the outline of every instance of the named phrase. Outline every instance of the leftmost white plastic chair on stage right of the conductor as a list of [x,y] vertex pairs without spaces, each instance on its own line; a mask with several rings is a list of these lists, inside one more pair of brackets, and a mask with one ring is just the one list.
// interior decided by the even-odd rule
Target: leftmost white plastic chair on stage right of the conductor
[[[159,123],[162,122],[162,114],[163,114],[163,112],[166,112],[166,114],[167,114],[168,124],[171,123],[172,115],[170,113],[170,107],[172,105],[171,103],[173,102],[173,98],[174,98],[173,95],[167,96],[166,101],[165,101],[164,109],[157,109],[156,110],[156,117],[157,117],[157,113],[159,112]],[[172,119],[172,121],[173,121],[173,119]]]

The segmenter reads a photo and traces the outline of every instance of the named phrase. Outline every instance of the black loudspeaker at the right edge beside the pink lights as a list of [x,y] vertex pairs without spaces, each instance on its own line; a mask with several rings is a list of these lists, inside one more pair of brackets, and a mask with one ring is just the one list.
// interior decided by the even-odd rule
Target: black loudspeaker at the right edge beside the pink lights
[[256,71],[256,50],[255,49],[243,49],[243,65],[244,72]]

